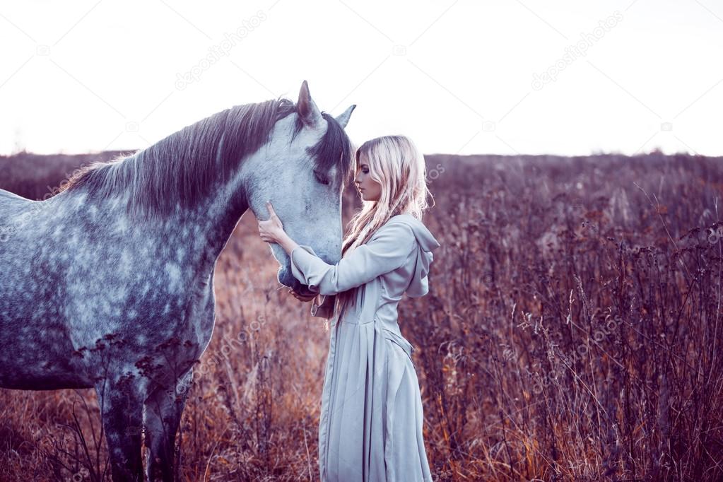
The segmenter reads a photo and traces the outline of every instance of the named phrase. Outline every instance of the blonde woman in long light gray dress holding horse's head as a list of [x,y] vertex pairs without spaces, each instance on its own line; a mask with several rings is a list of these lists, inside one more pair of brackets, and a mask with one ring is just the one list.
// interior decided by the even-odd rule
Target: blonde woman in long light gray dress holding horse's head
[[[355,177],[363,207],[335,265],[291,240],[270,203],[270,219],[259,222],[262,239],[283,246],[294,277],[325,296],[322,306],[331,304],[336,315],[319,422],[322,482],[432,481],[412,347],[397,323],[403,293],[429,291],[432,250],[440,246],[420,220],[425,178],[424,158],[410,139],[364,142]],[[330,317],[322,312],[312,314]]]

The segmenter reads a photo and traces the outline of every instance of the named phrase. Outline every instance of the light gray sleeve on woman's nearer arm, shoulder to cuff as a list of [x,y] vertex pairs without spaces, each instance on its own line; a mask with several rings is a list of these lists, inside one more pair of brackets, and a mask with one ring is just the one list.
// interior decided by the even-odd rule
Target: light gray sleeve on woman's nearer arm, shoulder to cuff
[[415,243],[414,232],[408,225],[390,223],[337,264],[328,264],[310,246],[300,244],[291,250],[291,273],[311,291],[335,295],[396,270],[404,264]]

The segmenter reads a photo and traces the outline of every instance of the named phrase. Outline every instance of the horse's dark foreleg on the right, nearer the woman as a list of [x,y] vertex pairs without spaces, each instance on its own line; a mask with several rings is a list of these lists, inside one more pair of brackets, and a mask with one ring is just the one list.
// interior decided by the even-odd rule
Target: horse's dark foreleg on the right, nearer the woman
[[192,370],[174,387],[157,387],[145,400],[146,473],[148,481],[174,481],[176,431],[188,396]]

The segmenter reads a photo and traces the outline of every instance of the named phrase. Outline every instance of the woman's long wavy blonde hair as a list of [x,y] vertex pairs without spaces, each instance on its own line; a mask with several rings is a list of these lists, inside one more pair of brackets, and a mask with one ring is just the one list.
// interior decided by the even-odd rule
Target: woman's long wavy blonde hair
[[[361,155],[367,159],[369,176],[381,186],[378,201],[361,202],[361,210],[348,223],[341,256],[353,251],[394,215],[408,213],[422,220],[427,205],[427,165],[414,142],[405,136],[376,137],[364,142],[356,150],[356,168]],[[432,201],[434,198],[432,197]],[[346,301],[354,290],[340,293]]]

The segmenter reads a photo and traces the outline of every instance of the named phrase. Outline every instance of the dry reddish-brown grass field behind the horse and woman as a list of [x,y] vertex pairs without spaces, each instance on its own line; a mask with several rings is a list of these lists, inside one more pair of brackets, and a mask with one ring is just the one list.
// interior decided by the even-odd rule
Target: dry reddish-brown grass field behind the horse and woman
[[[0,187],[42,199],[115,154],[0,158]],[[435,480],[723,480],[723,158],[428,155],[427,170],[442,247],[399,322]],[[181,480],[318,480],[329,333],[277,267],[249,212],[218,261]],[[0,390],[0,481],[110,480],[105,463],[93,390]]]

